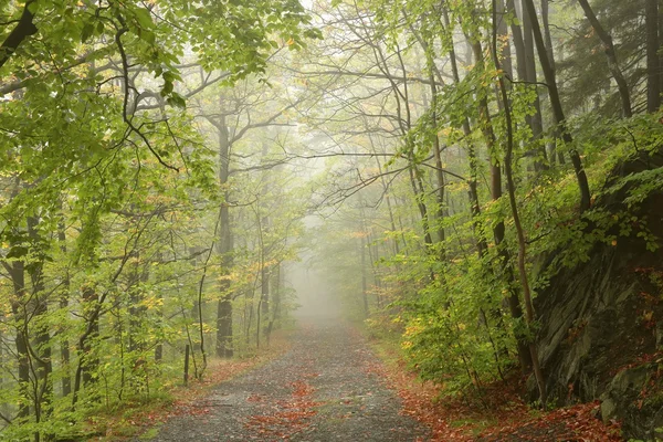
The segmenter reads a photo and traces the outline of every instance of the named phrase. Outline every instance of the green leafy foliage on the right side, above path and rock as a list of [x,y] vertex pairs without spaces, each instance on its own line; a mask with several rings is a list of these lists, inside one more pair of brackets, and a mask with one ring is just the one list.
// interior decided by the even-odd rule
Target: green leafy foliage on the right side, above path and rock
[[[619,44],[624,44],[623,51],[628,54],[624,65],[631,66],[629,81],[635,84],[635,78],[643,74],[632,64],[643,48],[642,30],[627,24],[632,23],[632,10],[617,17],[613,13],[619,13],[623,6],[609,4],[610,1],[599,3],[598,8],[604,7],[601,13],[606,13],[601,20],[617,23],[615,42],[624,39],[619,40]],[[330,119],[359,122],[356,117],[359,112],[348,109],[347,103],[361,103],[365,109],[371,110],[361,114],[365,131],[357,129],[355,133],[360,135],[346,136],[341,128],[337,139],[343,140],[344,146],[357,146],[360,151],[393,154],[382,165],[387,171],[381,172],[388,177],[392,171],[403,171],[400,179],[389,178],[388,185],[382,182],[382,194],[362,189],[361,194],[351,198],[337,214],[345,223],[343,228],[329,230],[344,231],[344,234],[327,236],[325,244],[334,256],[343,254],[347,260],[327,263],[332,274],[329,282],[354,317],[365,315],[362,298],[368,295],[367,323],[371,333],[376,336],[380,336],[380,330],[402,333],[403,352],[422,378],[445,385],[450,393],[480,396],[482,386],[499,379],[517,364],[516,337],[523,344],[536,341],[540,327],[536,320],[527,324],[524,318],[513,317],[506,303],[507,297],[523,296],[516,269],[518,240],[509,201],[505,197],[493,199],[490,175],[495,173],[495,169],[497,173],[504,170],[509,129],[515,158],[516,209],[527,254],[524,273],[532,282],[534,296],[545,291],[549,278],[561,269],[588,261],[600,245],[614,246],[628,238],[641,241],[643,249],[655,250],[660,239],[652,235],[640,209],[662,186],[660,168],[645,166],[661,151],[660,115],[614,117],[617,90],[604,66],[600,42],[591,35],[581,11],[578,8],[562,11],[551,6],[555,51],[562,50],[565,55],[570,51],[572,56],[583,57],[582,62],[565,59],[559,64],[558,84],[564,107],[567,116],[573,115],[567,118],[565,126],[573,141],[566,144],[559,137],[562,128],[551,123],[543,85],[517,81],[520,73],[516,70],[522,66],[516,63],[522,60],[512,52],[508,67],[513,72],[507,72],[506,61],[501,63],[501,71],[495,69],[492,52],[501,51],[506,36],[498,34],[496,23],[492,23],[493,11],[488,4],[361,2],[360,9],[366,13],[361,23],[357,23],[346,2],[335,2],[334,12],[326,11],[358,35],[358,45],[368,43],[375,51],[372,56],[369,51],[368,54],[360,52],[369,60],[364,65],[354,64],[359,56],[349,57],[350,67],[341,72],[346,75],[357,72],[361,77],[388,77],[382,84],[388,94],[378,95],[375,91],[379,86],[366,86],[371,87],[370,94],[375,95],[370,96],[375,101],[366,98],[361,87],[344,83],[344,93],[338,93],[338,105]],[[517,18],[522,11],[499,14],[507,27],[522,23]],[[562,32],[564,27],[571,23],[577,27],[569,39]],[[511,30],[507,32],[511,34]],[[329,32],[329,38],[337,38],[338,33]],[[350,39],[337,39],[339,45],[350,44]],[[467,48],[474,42],[481,43],[481,60]],[[514,46],[509,48],[513,51]],[[456,51],[457,81],[450,67],[451,49]],[[599,65],[602,71],[597,69]],[[507,127],[502,97],[495,92],[501,77],[508,88],[511,127]],[[434,101],[430,95],[431,78],[436,82]],[[343,75],[336,80],[345,82]],[[541,81],[540,72],[538,81]],[[582,86],[585,83],[587,87]],[[631,92],[633,97],[642,98],[638,86]],[[431,103],[436,106],[432,108]],[[372,109],[379,112],[372,113]],[[533,117],[540,117],[543,134],[535,134]],[[383,131],[376,135],[376,127],[382,127]],[[325,128],[333,133],[338,130],[333,124]],[[399,135],[397,140],[389,138],[394,133]],[[446,199],[442,204],[435,198],[440,182],[431,170],[438,167],[433,152],[435,138],[442,146]],[[594,207],[582,214],[577,206],[576,171],[569,161],[576,151],[593,192]],[[566,164],[559,162],[560,156],[566,158]],[[622,173],[624,165],[632,167],[634,160],[640,160],[643,167]],[[369,164],[357,160],[352,167],[364,172]],[[337,166],[329,161],[329,169],[334,167]],[[364,180],[366,176],[370,173],[364,173]],[[467,201],[473,177],[478,181],[480,204],[475,213],[470,211],[472,202]],[[504,177],[501,178],[499,191],[506,192]],[[385,199],[390,197],[386,207]],[[379,208],[373,209],[373,204]],[[505,238],[495,244],[495,232],[502,225]],[[435,238],[440,228],[446,235],[444,241]],[[370,240],[361,246],[345,232]],[[427,233],[433,236],[432,245],[424,244]],[[361,265],[362,249],[366,252],[383,242],[396,250],[381,249],[379,265],[375,267]],[[360,286],[361,278],[368,281],[368,288]],[[387,333],[387,336],[390,335]]]

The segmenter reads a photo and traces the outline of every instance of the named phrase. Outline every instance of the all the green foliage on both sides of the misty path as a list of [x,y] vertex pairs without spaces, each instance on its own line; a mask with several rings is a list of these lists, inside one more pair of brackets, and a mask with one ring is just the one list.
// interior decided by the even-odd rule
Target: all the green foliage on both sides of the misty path
[[[0,6],[0,41],[24,7]],[[296,307],[281,271],[303,243],[349,317],[401,335],[423,379],[478,396],[516,365],[518,341],[537,339],[538,323],[507,306],[520,305],[519,273],[536,295],[598,246],[660,246],[641,207],[663,190],[650,167],[661,115],[614,117],[602,49],[577,8],[551,27],[572,110],[557,127],[540,78],[493,60],[511,45],[492,3],[312,7],[29,2],[36,33],[0,54],[3,438],[91,435],[96,414],[167,394],[187,345],[202,377],[223,338],[220,302],[233,311],[230,347],[256,354]],[[613,0],[596,7],[638,112],[640,18]],[[518,14],[499,18],[518,25]],[[559,158],[575,152],[593,192],[583,213],[577,170]],[[328,219],[305,235],[312,209]]]

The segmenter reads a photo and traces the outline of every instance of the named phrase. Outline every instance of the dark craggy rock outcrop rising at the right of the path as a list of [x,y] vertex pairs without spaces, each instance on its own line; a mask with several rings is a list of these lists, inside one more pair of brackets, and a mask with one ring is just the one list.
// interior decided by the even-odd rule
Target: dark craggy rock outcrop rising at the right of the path
[[[623,196],[611,198],[599,203],[624,210]],[[636,235],[598,244],[588,262],[556,274],[535,307],[550,400],[601,399],[603,419],[622,419],[627,436],[649,440],[663,427],[663,193],[633,214],[646,219],[655,252]]]

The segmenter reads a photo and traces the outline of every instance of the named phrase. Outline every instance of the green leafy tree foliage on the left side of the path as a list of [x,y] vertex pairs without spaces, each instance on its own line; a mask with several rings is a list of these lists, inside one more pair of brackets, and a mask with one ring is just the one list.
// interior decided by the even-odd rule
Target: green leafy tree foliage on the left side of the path
[[[0,6],[0,42],[23,7]],[[212,253],[229,201],[214,137],[189,103],[212,84],[260,84],[278,49],[319,32],[294,0],[30,8],[36,34],[0,67],[0,433],[85,438],[95,414],[162,397],[186,345],[202,377],[221,277],[239,291],[256,266],[294,259],[294,207],[273,215],[269,256],[251,244],[243,266],[223,269]],[[198,70],[207,80],[193,85]]]

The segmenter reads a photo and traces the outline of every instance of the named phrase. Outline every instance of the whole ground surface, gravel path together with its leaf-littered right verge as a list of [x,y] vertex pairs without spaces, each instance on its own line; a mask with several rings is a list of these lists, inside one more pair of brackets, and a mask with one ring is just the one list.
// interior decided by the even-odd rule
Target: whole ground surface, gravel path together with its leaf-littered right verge
[[346,323],[303,319],[288,350],[180,401],[134,441],[621,440],[619,425],[594,418],[597,404],[533,411],[517,381],[488,386],[483,402],[438,400],[439,387],[373,349]]

